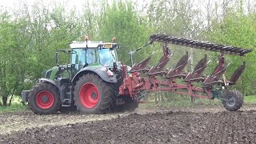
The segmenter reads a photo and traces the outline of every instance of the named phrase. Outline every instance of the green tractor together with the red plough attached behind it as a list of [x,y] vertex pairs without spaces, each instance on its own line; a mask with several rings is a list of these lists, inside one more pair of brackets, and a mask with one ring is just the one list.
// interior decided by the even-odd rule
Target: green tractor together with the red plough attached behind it
[[[57,66],[47,70],[44,78],[40,78],[31,90],[22,91],[22,101],[28,102],[35,114],[54,114],[67,107],[75,107],[85,114],[105,114],[115,110],[135,110],[147,93],[165,90],[192,98],[218,98],[226,110],[230,111],[242,106],[242,94],[229,88],[238,82],[246,62],[238,66],[228,79],[225,72],[230,64],[226,64],[224,56],[244,56],[252,50],[153,34],[148,44],[130,52],[131,62],[135,51],[154,42],[162,43],[163,55],[158,64],[152,67],[147,65],[152,55],[131,67],[118,62],[119,46],[113,41],[91,42],[86,37],[84,42],[72,42],[70,50],[56,52]],[[210,62],[205,55],[194,67],[194,71],[186,72],[184,69],[190,61],[186,52],[176,66],[165,69],[173,55],[168,47],[171,44],[219,52],[218,64],[212,74],[203,76]],[[70,54],[70,64],[58,65],[60,52]],[[146,78],[142,78],[142,75]],[[201,87],[194,86],[196,82],[200,82]]]

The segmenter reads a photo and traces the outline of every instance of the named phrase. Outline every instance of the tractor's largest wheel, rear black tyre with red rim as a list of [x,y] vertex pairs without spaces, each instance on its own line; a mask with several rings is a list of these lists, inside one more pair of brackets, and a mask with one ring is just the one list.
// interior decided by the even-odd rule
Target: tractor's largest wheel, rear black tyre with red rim
[[98,74],[85,74],[74,86],[74,105],[85,114],[106,114],[114,106],[114,86]]

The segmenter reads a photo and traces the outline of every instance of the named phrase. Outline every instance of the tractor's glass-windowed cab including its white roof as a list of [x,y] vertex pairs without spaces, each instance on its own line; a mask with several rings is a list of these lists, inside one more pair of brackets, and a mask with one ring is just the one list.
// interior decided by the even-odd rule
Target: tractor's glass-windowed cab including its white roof
[[116,43],[103,42],[72,42],[71,65],[79,71],[86,66],[113,67],[117,61]]

